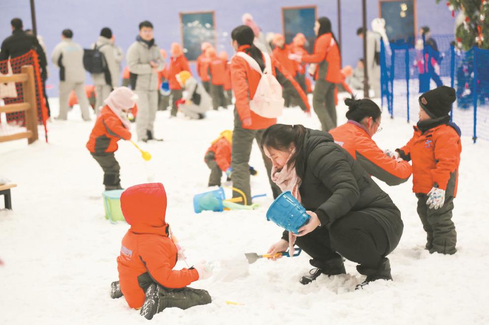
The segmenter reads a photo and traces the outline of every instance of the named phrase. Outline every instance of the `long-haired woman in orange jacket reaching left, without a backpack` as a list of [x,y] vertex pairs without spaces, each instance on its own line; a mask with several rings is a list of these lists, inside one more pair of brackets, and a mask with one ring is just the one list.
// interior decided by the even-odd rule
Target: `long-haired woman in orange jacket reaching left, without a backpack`
[[334,89],[340,78],[340,51],[338,42],[331,31],[331,22],[326,17],[318,19],[314,25],[318,37],[314,43],[314,53],[293,56],[300,62],[316,63],[314,80],[314,96],[312,106],[321,121],[323,131],[336,127],[336,105],[334,105]]

